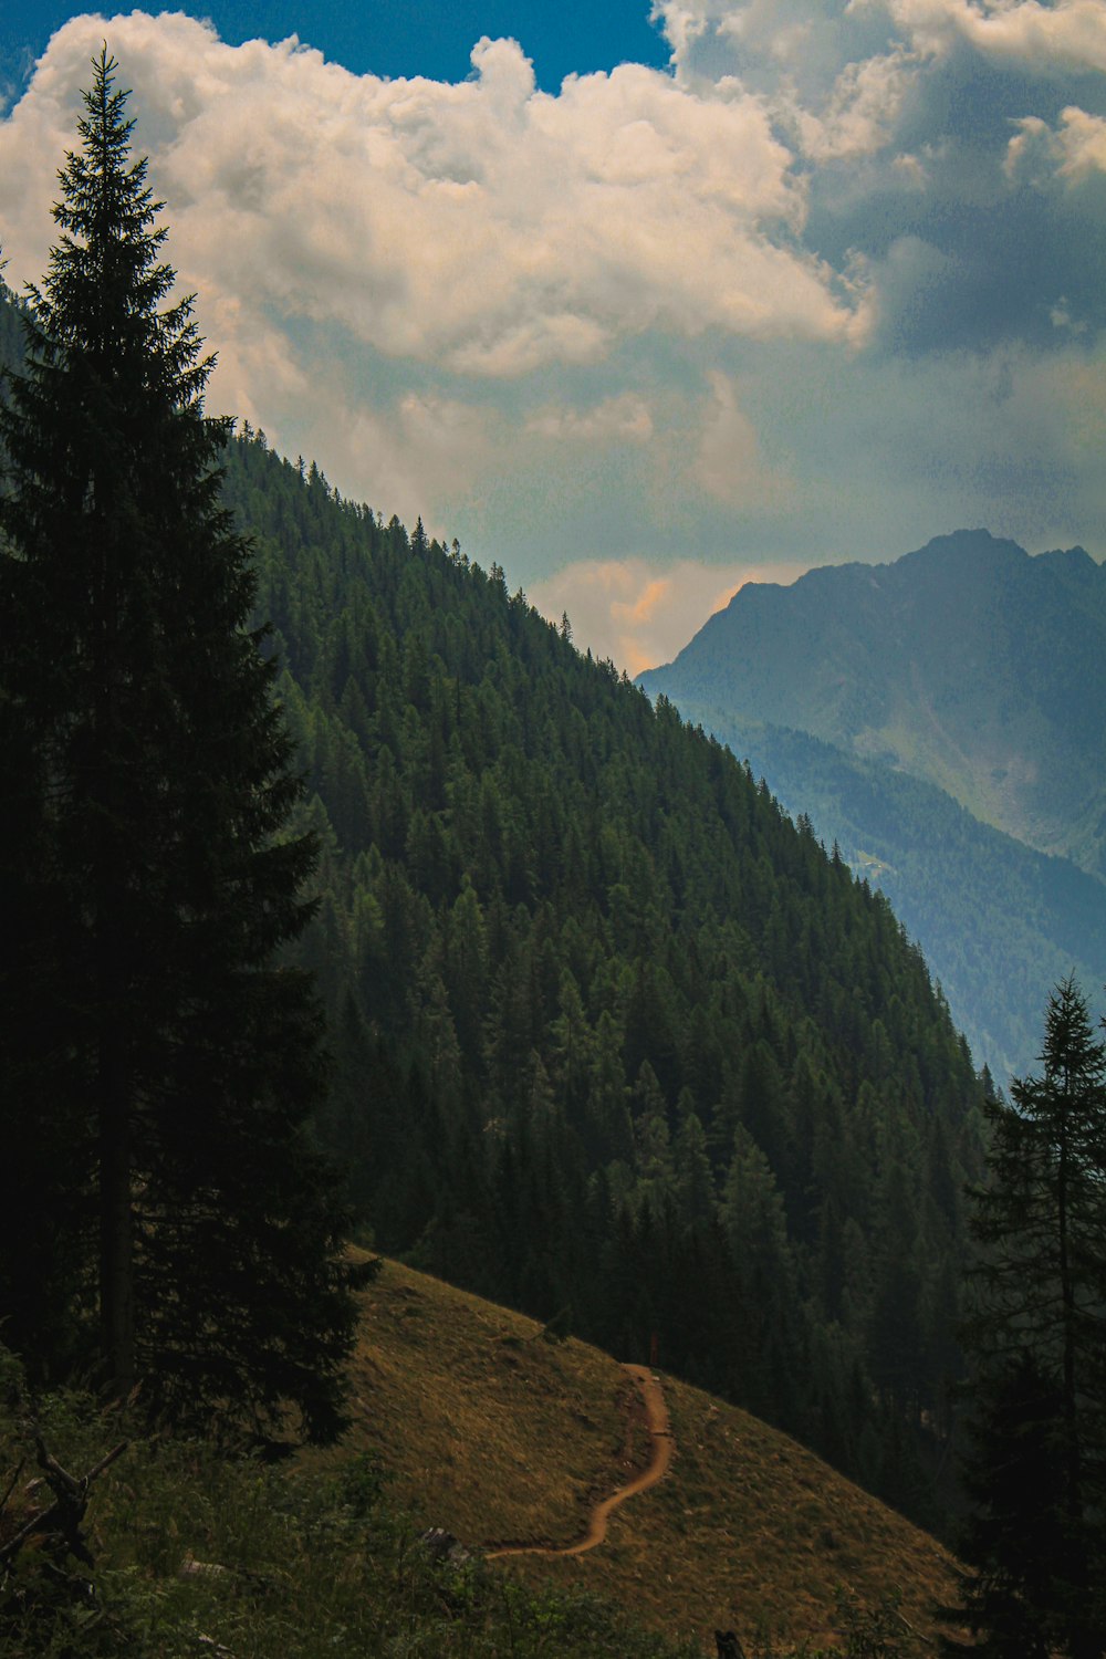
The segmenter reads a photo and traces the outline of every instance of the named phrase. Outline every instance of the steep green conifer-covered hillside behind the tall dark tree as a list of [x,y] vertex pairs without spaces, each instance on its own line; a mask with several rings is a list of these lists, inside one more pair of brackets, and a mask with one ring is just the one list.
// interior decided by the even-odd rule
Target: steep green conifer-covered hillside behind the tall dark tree
[[922,1513],[967,1045],[889,904],[456,547],[260,436],[227,496],[322,843],[322,1133],[378,1243]]

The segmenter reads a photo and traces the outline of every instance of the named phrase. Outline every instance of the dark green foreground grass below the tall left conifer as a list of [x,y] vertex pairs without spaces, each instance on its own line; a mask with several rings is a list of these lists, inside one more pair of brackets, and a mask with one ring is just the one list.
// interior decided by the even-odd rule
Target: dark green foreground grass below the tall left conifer
[[[55,1399],[43,1438],[83,1472],[119,1423],[86,1400]],[[3,1488],[20,1458],[0,1545],[30,1515],[33,1445],[0,1412]],[[93,1566],[27,1546],[0,1571],[5,1659],[126,1654],[176,1659],[484,1659],[594,1656],[686,1659],[584,1593],[512,1583],[479,1558],[434,1561],[420,1521],[396,1505],[365,1453],[333,1468],[232,1460],[209,1445],[138,1438],[91,1488],[85,1536]],[[58,1556],[61,1559],[61,1556]],[[95,1598],[81,1581],[95,1583]]]

